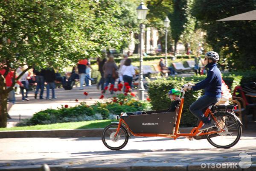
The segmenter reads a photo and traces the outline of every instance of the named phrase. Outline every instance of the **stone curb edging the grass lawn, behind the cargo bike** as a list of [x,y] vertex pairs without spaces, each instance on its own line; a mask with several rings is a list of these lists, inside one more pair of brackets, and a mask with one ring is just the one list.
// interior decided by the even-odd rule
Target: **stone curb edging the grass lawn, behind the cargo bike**
[[[180,132],[190,132],[192,128],[180,128]],[[98,129],[47,129],[26,131],[0,131],[0,138],[29,137],[101,137],[103,128]]]

